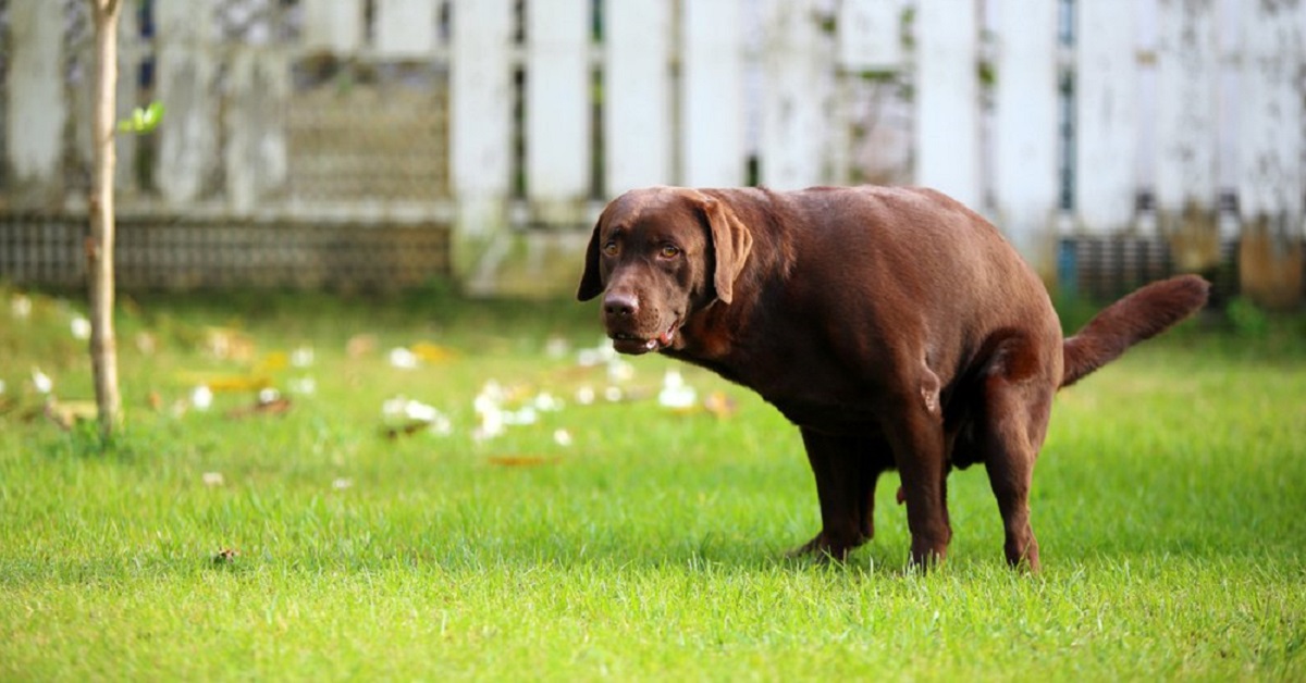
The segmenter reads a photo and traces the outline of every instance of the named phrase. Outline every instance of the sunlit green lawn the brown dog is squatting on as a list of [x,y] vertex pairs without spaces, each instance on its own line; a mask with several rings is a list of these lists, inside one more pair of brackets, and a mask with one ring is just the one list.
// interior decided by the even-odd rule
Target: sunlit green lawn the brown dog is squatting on
[[[576,366],[592,307],[125,302],[128,424],[102,452],[48,422],[30,380],[89,397],[80,304],[31,295],[17,319],[14,296],[0,289],[3,680],[1306,678],[1299,321],[1251,340],[1190,325],[1063,392],[1033,495],[1043,573],[1006,568],[972,469],[951,479],[949,558],[922,576],[904,571],[896,475],[846,565],[784,558],[816,530],[815,491],[795,430],[747,390],[641,358],[623,387],[644,398],[579,405],[607,384]],[[208,325],[243,330],[248,357],[214,357]],[[358,334],[374,349],[350,355]],[[554,337],[571,350],[547,354]],[[419,341],[456,357],[388,363]],[[278,367],[300,346],[311,367]],[[658,406],[671,367],[737,411]],[[204,377],[257,375],[316,392],[282,415],[230,417],[251,392],[182,410]],[[490,377],[567,406],[477,441]],[[453,434],[383,436],[398,394]]]

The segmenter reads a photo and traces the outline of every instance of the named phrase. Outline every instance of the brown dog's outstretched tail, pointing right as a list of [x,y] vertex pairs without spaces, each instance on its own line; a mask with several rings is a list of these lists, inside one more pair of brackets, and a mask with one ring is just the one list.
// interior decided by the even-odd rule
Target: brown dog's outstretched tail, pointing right
[[1153,282],[1107,306],[1062,347],[1062,387],[1115,360],[1130,346],[1165,332],[1205,306],[1211,283],[1198,276]]

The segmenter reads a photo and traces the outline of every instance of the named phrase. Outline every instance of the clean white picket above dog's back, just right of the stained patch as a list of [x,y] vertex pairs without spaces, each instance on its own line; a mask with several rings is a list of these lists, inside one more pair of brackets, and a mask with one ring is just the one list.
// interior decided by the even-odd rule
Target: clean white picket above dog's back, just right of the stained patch
[[916,39],[917,183],[981,210],[976,3],[919,0]]

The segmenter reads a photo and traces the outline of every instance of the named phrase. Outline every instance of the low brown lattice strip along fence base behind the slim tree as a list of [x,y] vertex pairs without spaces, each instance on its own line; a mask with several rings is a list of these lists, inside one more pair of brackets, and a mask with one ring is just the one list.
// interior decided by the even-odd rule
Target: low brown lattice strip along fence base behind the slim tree
[[[0,279],[78,287],[86,218],[0,221]],[[129,217],[118,223],[123,290],[287,287],[393,291],[447,279],[449,229],[426,222],[333,222]]]

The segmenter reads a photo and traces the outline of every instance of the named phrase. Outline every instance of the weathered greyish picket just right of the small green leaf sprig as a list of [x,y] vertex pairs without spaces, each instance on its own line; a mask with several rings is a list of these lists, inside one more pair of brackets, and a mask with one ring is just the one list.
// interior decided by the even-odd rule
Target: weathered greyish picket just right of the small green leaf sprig
[[214,0],[154,0],[158,27],[158,99],[167,115],[158,129],[154,178],[163,199],[184,204],[209,189],[218,155]]

